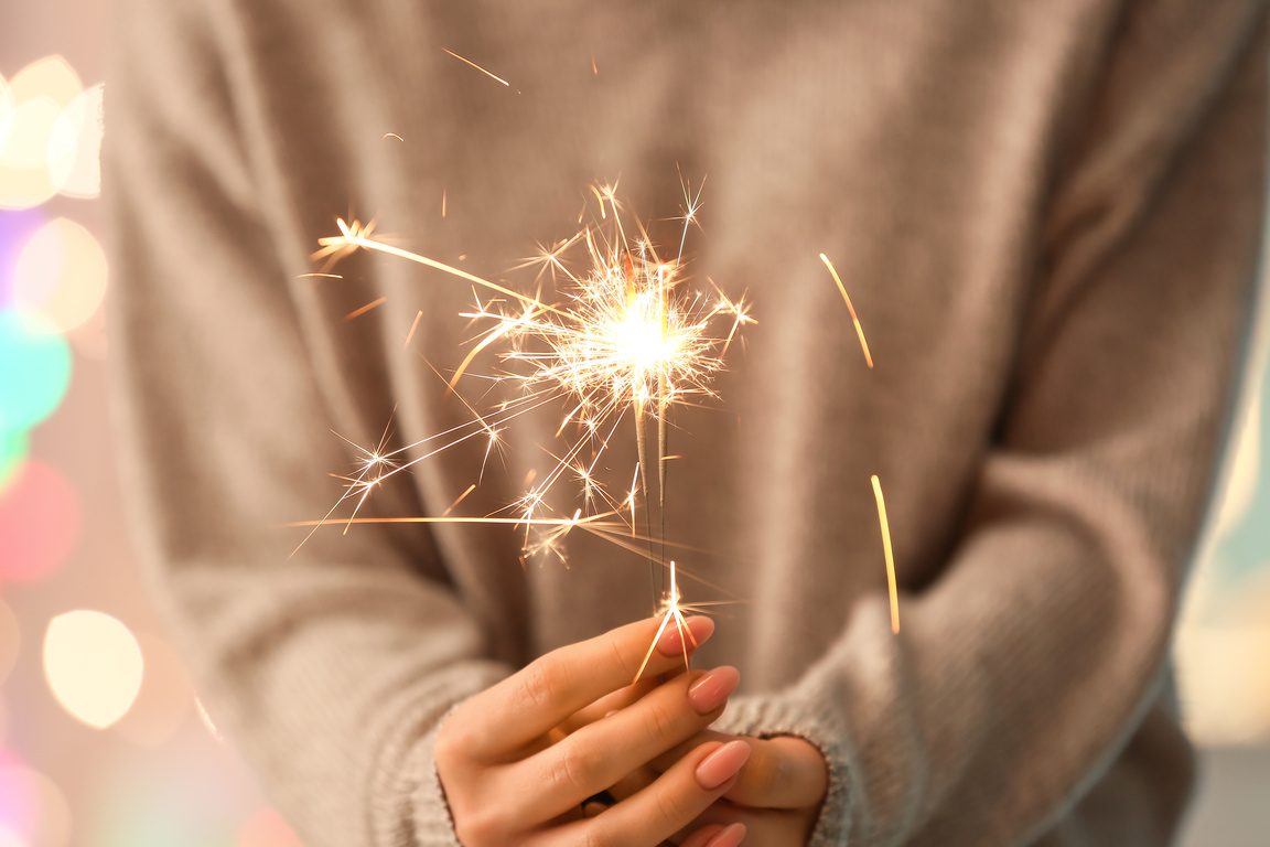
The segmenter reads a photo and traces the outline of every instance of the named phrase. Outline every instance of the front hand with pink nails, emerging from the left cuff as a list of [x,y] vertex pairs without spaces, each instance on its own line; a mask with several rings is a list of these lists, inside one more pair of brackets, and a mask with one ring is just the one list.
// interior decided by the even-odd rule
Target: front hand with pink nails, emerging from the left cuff
[[[697,644],[714,630],[709,618],[688,626]],[[655,618],[640,621],[554,650],[450,715],[434,756],[465,847],[655,847],[734,786],[747,747],[685,743],[723,714],[739,674],[692,672],[631,690],[657,627]],[[681,657],[681,636],[669,630],[645,674],[655,679]],[[676,761],[646,785],[583,815],[587,797],[674,748]]]

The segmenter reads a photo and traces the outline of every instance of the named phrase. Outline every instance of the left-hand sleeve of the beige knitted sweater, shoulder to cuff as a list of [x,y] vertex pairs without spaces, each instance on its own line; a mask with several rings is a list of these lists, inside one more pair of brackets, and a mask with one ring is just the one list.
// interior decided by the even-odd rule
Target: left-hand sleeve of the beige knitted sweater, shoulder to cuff
[[[311,281],[279,260],[234,34],[207,5],[116,13],[112,364],[138,557],[210,715],[305,844],[456,844],[432,737],[508,668],[428,533],[296,550],[282,527],[328,512],[347,456],[298,316]],[[377,502],[419,513],[411,497]]]

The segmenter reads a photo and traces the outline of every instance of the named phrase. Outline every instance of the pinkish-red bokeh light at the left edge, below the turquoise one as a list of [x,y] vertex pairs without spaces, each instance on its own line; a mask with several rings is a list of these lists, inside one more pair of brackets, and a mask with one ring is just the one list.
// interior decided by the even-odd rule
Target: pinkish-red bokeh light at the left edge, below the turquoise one
[[24,462],[0,491],[0,584],[33,582],[51,573],[75,547],[79,528],[75,490],[48,465]]

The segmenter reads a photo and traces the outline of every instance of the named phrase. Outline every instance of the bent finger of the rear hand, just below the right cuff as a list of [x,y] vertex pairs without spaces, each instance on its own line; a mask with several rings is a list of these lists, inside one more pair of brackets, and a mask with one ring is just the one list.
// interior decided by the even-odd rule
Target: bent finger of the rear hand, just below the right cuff
[[[649,762],[664,771],[702,740],[726,742],[732,735],[704,730]],[[758,809],[805,809],[818,806],[829,787],[829,771],[820,750],[795,735],[747,738],[749,762],[728,791],[728,800]]]

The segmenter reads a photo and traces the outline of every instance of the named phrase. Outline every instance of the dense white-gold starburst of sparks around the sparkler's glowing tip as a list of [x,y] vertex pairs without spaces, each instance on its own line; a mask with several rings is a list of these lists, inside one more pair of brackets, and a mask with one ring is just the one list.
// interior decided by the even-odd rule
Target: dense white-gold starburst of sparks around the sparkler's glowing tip
[[[460,316],[472,321],[476,335],[447,381],[447,392],[457,394],[465,376],[518,391],[489,411],[478,410],[460,395],[471,419],[446,433],[448,441],[442,439],[441,446],[429,444],[428,456],[484,432],[488,461],[498,444],[498,432],[514,418],[550,403],[568,404],[569,411],[561,417],[556,436],[574,428],[577,434],[559,455],[549,451],[554,467],[535,488],[526,479],[522,484],[526,493],[504,507],[525,526],[526,551],[531,554],[558,549],[555,533],[547,533],[545,544],[531,545],[528,531],[544,526],[536,521],[551,514],[550,504],[556,502],[551,493],[561,480],[574,484],[583,514],[597,508],[629,510],[631,532],[638,522],[638,500],[646,503],[653,490],[648,479],[650,467],[658,470],[657,493],[664,503],[668,417],[678,406],[700,405],[701,400],[715,396],[710,383],[723,368],[723,353],[739,328],[753,323],[744,296],[732,300],[712,281],[714,296],[688,291],[683,248],[687,227],[695,223],[701,206],[700,190],[693,196],[685,185],[683,232],[673,258],[658,254],[643,223],[617,201],[616,187],[593,185],[591,192],[598,202],[599,223],[584,226],[550,249],[540,249],[521,265],[536,269],[538,291],[532,295],[376,240],[371,237],[372,226],[357,221],[337,220],[339,235],[319,239],[321,249],[312,257],[343,258],[357,249],[376,250],[475,286],[475,306]],[[542,297],[542,284],[549,278],[556,291],[551,301]],[[422,311],[414,317],[406,345],[420,319]],[[724,324],[723,331],[715,331],[718,324]],[[502,368],[472,373],[478,357],[485,352],[497,353]],[[639,462],[629,497],[620,499],[601,479],[601,457],[624,425],[631,424]],[[653,425],[655,439],[648,436]],[[654,442],[655,456],[650,456]],[[423,442],[403,450],[420,446]],[[382,475],[367,472],[357,493],[417,461],[418,457],[399,461]],[[363,502],[364,497],[359,498],[357,507]]]

